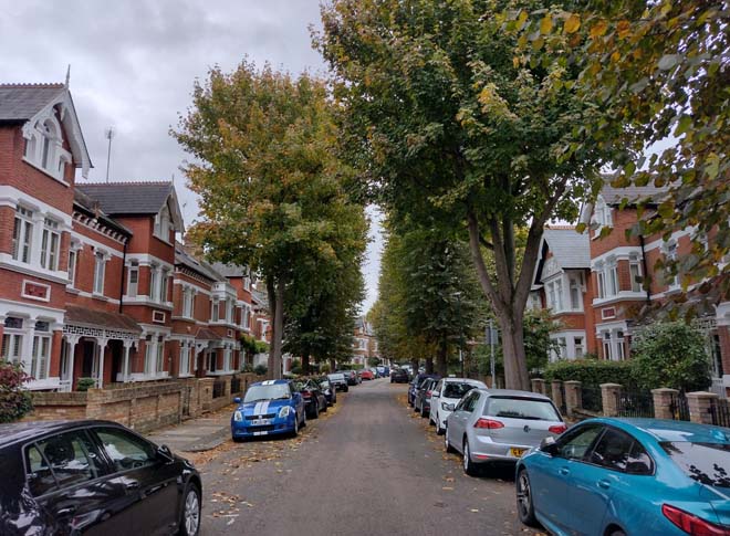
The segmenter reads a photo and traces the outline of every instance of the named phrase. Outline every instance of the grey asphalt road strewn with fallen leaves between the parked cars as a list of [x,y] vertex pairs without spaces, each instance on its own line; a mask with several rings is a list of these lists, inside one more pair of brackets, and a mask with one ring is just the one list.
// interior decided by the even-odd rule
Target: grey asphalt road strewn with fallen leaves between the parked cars
[[531,535],[510,469],[463,474],[387,379],[351,388],[298,439],[228,442],[201,466],[204,535]]

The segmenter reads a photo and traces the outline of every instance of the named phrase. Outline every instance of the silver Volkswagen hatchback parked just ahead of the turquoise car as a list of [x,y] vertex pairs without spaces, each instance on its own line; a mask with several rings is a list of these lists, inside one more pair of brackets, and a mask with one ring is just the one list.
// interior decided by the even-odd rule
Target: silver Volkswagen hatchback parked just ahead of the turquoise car
[[552,400],[508,389],[472,389],[446,420],[446,451],[463,455],[463,471],[476,475],[491,462],[514,462],[543,438],[566,430]]

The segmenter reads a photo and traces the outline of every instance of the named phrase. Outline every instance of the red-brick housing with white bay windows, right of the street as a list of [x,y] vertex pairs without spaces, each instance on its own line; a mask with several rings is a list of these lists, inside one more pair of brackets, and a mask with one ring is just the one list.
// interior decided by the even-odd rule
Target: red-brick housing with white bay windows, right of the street
[[[665,193],[654,187],[606,186],[595,203],[583,208],[581,221],[590,224],[585,233],[570,227],[545,229],[529,307],[550,308],[562,325],[551,335],[560,347],[552,360],[586,353],[602,359],[629,358],[632,335],[643,326],[640,309],[682,292],[678,277],[654,274],[654,265],[661,258],[689,253],[695,231],[674,232],[669,240],[626,233],[638,220],[637,203],[650,211]],[[599,238],[604,227],[612,232]],[[689,299],[698,283],[689,286]],[[696,325],[707,337],[712,390],[730,393],[730,303],[718,304]]]

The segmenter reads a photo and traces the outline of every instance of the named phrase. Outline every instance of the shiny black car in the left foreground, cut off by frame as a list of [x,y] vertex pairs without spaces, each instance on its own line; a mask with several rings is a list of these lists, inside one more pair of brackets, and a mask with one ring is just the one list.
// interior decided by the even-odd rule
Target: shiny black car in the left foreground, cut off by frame
[[0,424],[0,534],[181,534],[200,529],[200,475],[108,421]]

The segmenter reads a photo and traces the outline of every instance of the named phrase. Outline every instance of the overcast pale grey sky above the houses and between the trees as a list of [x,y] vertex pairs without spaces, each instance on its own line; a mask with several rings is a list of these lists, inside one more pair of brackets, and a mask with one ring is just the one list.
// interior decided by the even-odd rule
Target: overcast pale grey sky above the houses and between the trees
[[[215,64],[231,71],[244,55],[292,73],[325,70],[307,30],[319,24],[319,0],[0,0],[0,82],[63,82],[71,64],[90,179],[104,180],[113,126],[109,178],[175,176],[188,224],[198,209],[178,169],[186,155],[168,130],[190,104],[194,80]],[[364,312],[377,294],[382,241],[372,234]]]

